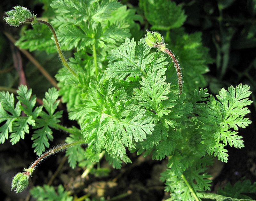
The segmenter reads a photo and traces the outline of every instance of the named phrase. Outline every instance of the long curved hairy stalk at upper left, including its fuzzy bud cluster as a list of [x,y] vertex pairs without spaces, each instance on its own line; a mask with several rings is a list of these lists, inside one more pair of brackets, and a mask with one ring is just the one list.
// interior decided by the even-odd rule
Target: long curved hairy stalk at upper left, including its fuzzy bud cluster
[[57,47],[57,50],[58,50],[58,53],[60,55],[60,59],[61,59],[63,65],[66,66],[66,68],[68,68],[68,70],[74,76],[78,77],[78,75],[75,73],[75,71],[73,71],[70,68],[67,60],[65,59],[64,55],[62,54],[61,49],[60,49],[60,44],[59,44],[59,41],[56,36],[56,32],[50,23],[45,22],[44,20],[36,19],[36,15],[34,15],[34,13],[32,14],[28,9],[26,9],[23,6],[15,6],[13,10],[6,12],[6,14],[7,14],[7,17],[4,18],[4,20],[6,21],[7,24],[12,25],[12,26],[19,26],[24,23],[31,23],[32,25],[36,24],[36,23],[47,25],[52,31],[52,34],[53,34],[53,37],[54,37],[54,40],[56,43],[56,47]]

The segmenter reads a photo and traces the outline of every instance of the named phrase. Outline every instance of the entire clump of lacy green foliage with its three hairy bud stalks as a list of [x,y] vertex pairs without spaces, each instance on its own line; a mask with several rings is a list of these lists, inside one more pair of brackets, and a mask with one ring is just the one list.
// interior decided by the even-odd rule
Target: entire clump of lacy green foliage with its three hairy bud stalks
[[[130,29],[136,27],[134,20],[140,17],[116,0],[53,1],[55,16],[51,23],[56,33],[52,25],[24,7],[16,6],[7,12],[5,20],[13,26],[35,24],[18,42],[21,47],[29,44],[35,49],[31,34],[42,29],[37,24],[49,26],[64,66],[56,75],[60,90],[49,89],[43,106],[35,106],[36,97],[23,85],[17,91],[16,105],[13,94],[0,93],[1,143],[8,138],[12,144],[17,143],[30,132],[30,125],[36,129],[31,137],[33,147],[41,155],[24,173],[14,177],[12,188],[16,192],[28,186],[28,177],[37,164],[60,150],[67,149],[72,168],[78,164],[88,169],[103,156],[120,169],[123,162],[131,162],[127,154],[131,151],[151,154],[153,160],[168,157],[161,179],[171,199],[199,200],[197,193],[210,189],[206,170],[213,157],[227,162],[227,145],[244,147],[237,130],[251,123],[245,117],[252,103],[248,99],[249,86],[221,89],[216,97],[207,89],[199,89],[205,84],[206,64],[211,62],[200,33],[188,35],[180,28],[186,18],[180,6],[152,2],[141,0],[140,7],[152,28],[166,31],[166,41],[170,41],[177,57],[166,48],[159,32],[147,31],[145,39],[138,41],[132,38]],[[172,21],[160,23],[165,12]],[[120,13],[127,17],[120,17]],[[38,48],[50,53],[52,39],[48,31],[41,34],[49,46]],[[72,49],[74,56],[66,60],[60,48]],[[67,103],[69,119],[76,120],[79,128],[58,124],[62,114],[56,111],[59,95]],[[67,144],[42,154],[54,137],[53,128],[70,133]],[[83,148],[82,143],[87,147]],[[37,199],[37,191],[43,192],[40,199],[55,194],[52,187],[36,187],[31,193]],[[63,192],[59,186],[61,199],[72,199]]]

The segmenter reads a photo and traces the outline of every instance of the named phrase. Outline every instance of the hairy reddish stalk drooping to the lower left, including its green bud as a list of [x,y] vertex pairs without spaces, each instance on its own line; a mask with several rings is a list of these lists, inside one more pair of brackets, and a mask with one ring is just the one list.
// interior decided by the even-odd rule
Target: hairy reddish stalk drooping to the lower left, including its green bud
[[12,180],[12,190],[15,190],[16,193],[22,192],[28,187],[28,179],[29,176],[32,176],[34,169],[40,164],[44,159],[51,156],[52,154],[58,153],[60,151],[65,150],[68,147],[72,147],[77,144],[84,143],[84,140],[76,141],[70,144],[64,144],[51,150],[45,152],[41,156],[39,156],[35,162],[33,162],[28,169],[24,169],[25,172],[20,172],[16,174]]

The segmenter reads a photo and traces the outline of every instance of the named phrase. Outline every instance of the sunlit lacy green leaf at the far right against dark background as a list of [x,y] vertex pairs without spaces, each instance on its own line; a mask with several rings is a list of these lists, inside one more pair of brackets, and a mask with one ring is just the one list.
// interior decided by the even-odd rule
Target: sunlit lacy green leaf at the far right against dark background
[[[244,115],[250,112],[246,106],[252,103],[248,100],[251,92],[247,85],[239,84],[236,88],[228,88],[228,91],[222,89],[217,96],[219,101],[210,97],[206,103],[200,103],[200,97],[201,100],[206,100],[207,95],[204,95],[203,91],[201,93],[202,95],[199,93],[199,96],[196,95],[197,97],[194,94],[192,101],[196,101],[194,102],[196,106],[194,111],[200,115],[198,118],[203,123],[201,128],[204,130],[203,139],[207,141],[208,153],[227,162],[228,154],[224,146],[229,143],[230,146],[234,145],[236,148],[244,147],[242,137],[231,129],[244,128],[251,123],[248,118],[244,118]],[[210,138],[209,133],[214,138]]]

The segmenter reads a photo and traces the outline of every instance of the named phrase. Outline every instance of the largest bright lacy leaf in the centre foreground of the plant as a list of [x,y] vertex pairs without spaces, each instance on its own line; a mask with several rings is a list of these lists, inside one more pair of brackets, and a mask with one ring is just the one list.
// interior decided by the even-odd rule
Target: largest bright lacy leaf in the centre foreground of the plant
[[125,147],[132,148],[133,141],[142,141],[146,134],[152,134],[154,124],[144,117],[146,110],[134,106],[133,99],[127,100],[124,90],[112,91],[112,85],[104,82],[97,91],[98,101],[92,96],[94,105],[85,116],[83,133],[94,151],[106,148],[122,158],[126,155]]

